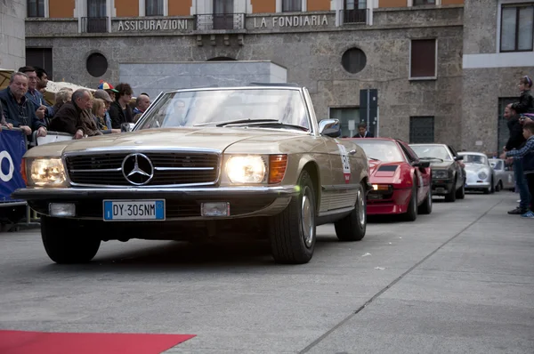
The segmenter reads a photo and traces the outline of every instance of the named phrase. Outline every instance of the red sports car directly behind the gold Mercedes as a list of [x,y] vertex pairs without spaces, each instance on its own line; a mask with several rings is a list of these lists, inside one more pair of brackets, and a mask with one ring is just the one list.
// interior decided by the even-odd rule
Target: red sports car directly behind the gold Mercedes
[[432,213],[430,161],[420,161],[409,145],[387,138],[351,139],[369,159],[373,189],[368,193],[368,215],[404,214],[415,221],[417,213]]

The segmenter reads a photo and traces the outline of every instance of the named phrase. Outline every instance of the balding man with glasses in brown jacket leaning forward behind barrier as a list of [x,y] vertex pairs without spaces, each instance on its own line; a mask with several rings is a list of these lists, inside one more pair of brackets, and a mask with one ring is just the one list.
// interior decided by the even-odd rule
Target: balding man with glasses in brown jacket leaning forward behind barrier
[[72,93],[72,100],[63,104],[53,117],[50,130],[74,135],[74,139],[101,135],[94,123],[93,97],[89,90],[79,89]]

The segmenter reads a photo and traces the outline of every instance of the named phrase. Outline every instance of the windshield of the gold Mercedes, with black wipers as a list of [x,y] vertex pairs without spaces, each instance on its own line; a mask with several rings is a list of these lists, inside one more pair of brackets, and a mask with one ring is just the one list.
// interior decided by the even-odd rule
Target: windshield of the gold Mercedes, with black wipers
[[209,125],[235,127],[260,123],[262,126],[282,128],[284,125],[296,125],[304,128],[301,131],[309,131],[310,119],[301,93],[287,89],[166,93],[155,102],[154,108],[143,117],[136,130]]

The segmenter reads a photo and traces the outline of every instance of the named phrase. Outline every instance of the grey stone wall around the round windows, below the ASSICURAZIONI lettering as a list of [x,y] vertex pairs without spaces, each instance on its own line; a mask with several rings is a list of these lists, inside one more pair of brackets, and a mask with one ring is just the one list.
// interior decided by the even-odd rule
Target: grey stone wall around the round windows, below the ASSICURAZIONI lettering
[[[287,82],[309,88],[319,119],[328,117],[329,108],[359,106],[360,89],[376,88],[381,136],[408,141],[409,117],[433,116],[435,141],[446,141],[460,149],[462,12],[461,6],[376,9],[375,25],[344,27],[334,26],[333,12],[320,12],[328,17],[326,28],[276,30],[250,26],[254,21],[250,16],[245,31],[230,33],[226,38],[224,34],[212,37],[198,33],[45,35],[51,31],[37,26],[53,26],[51,21],[28,21],[32,35],[27,45],[53,48],[56,80],[91,87],[101,79],[117,83],[121,63],[205,61],[215,57],[271,60],[287,68]],[[267,23],[272,23],[267,17]],[[259,23],[260,18],[256,20]],[[429,37],[438,41],[438,78],[410,81],[410,40]],[[352,47],[367,56],[367,66],[357,74],[348,73],[341,64],[343,53]],[[93,52],[101,52],[109,61],[102,77],[90,76],[85,68]]]

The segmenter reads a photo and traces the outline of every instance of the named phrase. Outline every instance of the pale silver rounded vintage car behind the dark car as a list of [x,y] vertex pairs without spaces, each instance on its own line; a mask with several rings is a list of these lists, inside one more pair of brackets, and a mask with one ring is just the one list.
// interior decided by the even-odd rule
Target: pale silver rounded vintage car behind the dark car
[[494,193],[498,181],[486,154],[463,151],[458,155],[464,157],[465,189],[480,190],[485,194]]

